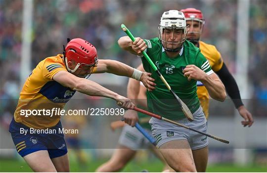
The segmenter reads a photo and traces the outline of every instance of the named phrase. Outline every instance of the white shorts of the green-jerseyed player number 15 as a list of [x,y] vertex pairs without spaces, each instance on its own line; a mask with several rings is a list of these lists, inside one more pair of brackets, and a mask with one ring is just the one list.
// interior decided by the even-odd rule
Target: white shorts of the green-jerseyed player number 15
[[[176,122],[188,126],[192,129],[207,132],[207,120],[200,106],[196,112],[193,113],[194,121],[189,122],[186,118],[178,120]],[[188,130],[169,122],[151,118],[149,121],[152,127],[152,134],[157,141],[157,146],[160,147],[166,142],[171,140],[185,139],[188,141],[192,150],[204,148],[208,145],[208,137],[197,133],[192,130]]]

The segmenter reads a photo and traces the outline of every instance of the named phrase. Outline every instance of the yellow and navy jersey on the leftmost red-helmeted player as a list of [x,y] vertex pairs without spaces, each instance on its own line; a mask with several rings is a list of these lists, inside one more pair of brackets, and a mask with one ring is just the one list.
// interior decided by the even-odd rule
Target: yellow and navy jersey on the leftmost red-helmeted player
[[57,72],[67,71],[62,57],[62,54],[58,54],[45,58],[27,78],[14,113],[14,120],[17,123],[22,123],[29,128],[46,129],[54,127],[59,122],[59,115],[50,117],[41,112],[42,115],[25,117],[21,115],[21,110],[62,109],[71,99],[75,90],[53,80]]

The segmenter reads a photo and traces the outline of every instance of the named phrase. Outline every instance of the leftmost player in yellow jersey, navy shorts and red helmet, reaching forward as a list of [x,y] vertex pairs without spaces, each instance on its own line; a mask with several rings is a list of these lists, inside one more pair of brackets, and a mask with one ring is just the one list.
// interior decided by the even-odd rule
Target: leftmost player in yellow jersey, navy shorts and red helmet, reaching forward
[[20,92],[9,132],[17,152],[33,171],[70,171],[60,115],[55,110],[62,109],[76,91],[134,108],[130,99],[85,79],[91,73],[105,72],[140,80],[146,87],[152,84],[149,73],[118,61],[98,60],[96,48],[79,38],[68,39],[63,54],[45,58],[32,71]]

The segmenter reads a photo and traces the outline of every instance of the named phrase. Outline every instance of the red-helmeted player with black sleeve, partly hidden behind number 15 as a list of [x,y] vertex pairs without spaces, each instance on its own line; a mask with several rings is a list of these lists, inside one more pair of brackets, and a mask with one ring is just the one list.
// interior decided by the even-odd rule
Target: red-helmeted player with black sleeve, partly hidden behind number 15
[[[240,116],[244,118],[244,121],[241,122],[242,125],[244,127],[250,127],[253,124],[252,115],[243,105],[237,84],[233,76],[229,73],[226,65],[223,63],[223,59],[221,57],[220,52],[216,49],[214,45],[200,41],[200,37],[205,23],[202,12],[195,8],[181,9],[181,12],[183,12],[185,16],[186,25],[189,26],[187,40],[200,48],[201,53],[209,61],[212,70],[222,80],[227,94],[232,99]],[[208,90],[206,89],[206,87],[203,86],[201,82],[197,82],[197,95],[200,100],[201,106],[203,107],[204,114],[206,118],[208,118],[209,94]]]

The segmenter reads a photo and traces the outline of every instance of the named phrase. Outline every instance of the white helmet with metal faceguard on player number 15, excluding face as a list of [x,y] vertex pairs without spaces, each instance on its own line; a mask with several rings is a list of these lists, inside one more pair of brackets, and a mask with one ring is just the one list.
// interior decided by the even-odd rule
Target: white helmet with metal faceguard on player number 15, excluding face
[[[179,42],[167,42],[165,40],[162,40],[163,29],[170,29],[170,30],[181,29],[182,35],[180,36],[181,37],[180,41]],[[184,14],[181,11],[169,10],[162,14],[162,17],[160,18],[160,24],[159,24],[159,38],[165,50],[179,51],[182,48],[183,44],[181,44],[178,48],[174,49],[174,48],[167,47],[167,43],[172,43],[172,47],[174,47],[174,44],[183,43],[186,40],[186,35],[187,35],[186,20],[185,20]]]

